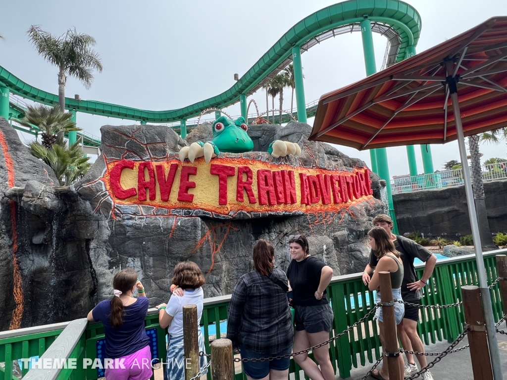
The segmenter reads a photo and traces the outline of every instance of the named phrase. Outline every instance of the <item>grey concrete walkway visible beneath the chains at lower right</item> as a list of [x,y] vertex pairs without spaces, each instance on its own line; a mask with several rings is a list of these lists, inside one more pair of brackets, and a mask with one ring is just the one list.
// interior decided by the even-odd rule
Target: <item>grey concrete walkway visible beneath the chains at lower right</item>
[[[499,329],[505,331],[505,323],[502,323]],[[507,380],[507,335],[497,333],[496,337],[500,349],[502,374]],[[468,339],[465,337],[456,348],[463,347],[466,344],[468,344]],[[425,350],[426,352],[443,352],[449,345],[447,341],[439,342],[434,345],[426,346]],[[429,363],[434,357],[428,356],[427,359]],[[371,367],[372,364],[368,363],[365,367],[352,368],[351,376],[348,377],[347,380],[361,380]],[[435,364],[434,367],[430,369],[430,372],[434,380],[474,380],[472,362],[470,361],[470,351],[463,350],[455,354],[447,355],[439,363]],[[422,379],[422,376],[418,378]],[[341,380],[341,377],[337,376],[337,379]],[[367,380],[373,379],[374,378],[371,376],[367,378]]]

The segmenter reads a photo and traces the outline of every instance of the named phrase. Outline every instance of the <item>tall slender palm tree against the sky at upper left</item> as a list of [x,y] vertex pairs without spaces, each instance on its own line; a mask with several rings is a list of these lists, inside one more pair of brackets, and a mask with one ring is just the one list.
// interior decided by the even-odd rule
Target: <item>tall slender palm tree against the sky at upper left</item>
[[102,72],[100,57],[91,49],[95,39],[88,34],[78,34],[76,29],[68,29],[66,34],[55,37],[36,25],[32,25],[27,34],[39,54],[59,69],[58,103],[65,112],[67,75],[79,79],[89,89],[93,82],[92,70]]

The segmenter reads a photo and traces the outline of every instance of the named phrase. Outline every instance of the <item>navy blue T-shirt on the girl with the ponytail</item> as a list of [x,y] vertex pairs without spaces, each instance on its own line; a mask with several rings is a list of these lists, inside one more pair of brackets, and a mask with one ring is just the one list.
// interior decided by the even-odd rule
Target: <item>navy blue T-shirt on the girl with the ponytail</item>
[[124,307],[123,325],[119,328],[114,328],[109,320],[110,302],[110,299],[105,299],[92,311],[95,322],[102,322],[104,325],[105,357],[120,358],[148,346],[150,338],[144,329],[144,317],[150,303],[148,298],[139,297],[132,305]]

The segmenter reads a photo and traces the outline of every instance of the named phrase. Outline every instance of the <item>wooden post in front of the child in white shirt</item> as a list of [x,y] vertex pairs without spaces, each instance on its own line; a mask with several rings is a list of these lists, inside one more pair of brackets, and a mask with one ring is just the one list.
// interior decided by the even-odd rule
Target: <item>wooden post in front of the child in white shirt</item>
[[183,352],[185,355],[185,380],[190,380],[200,370],[197,305],[183,307]]

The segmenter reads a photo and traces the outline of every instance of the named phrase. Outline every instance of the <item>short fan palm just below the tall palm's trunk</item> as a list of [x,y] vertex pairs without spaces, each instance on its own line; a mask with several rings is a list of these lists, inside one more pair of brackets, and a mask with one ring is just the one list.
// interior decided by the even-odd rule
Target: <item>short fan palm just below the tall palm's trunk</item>
[[58,105],[51,108],[38,104],[27,105],[25,117],[14,119],[14,121],[28,128],[33,128],[33,126],[39,128],[42,145],[51,149],[56,143],[63,144],[65,132],[81,131],[71,119],[72,113],[61,112]]

